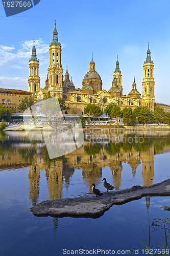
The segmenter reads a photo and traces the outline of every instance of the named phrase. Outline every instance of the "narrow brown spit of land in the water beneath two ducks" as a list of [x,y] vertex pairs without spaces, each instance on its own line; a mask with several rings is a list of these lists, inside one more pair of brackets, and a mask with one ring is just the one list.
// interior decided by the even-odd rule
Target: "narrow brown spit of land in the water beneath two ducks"
[[170,179],[151,186],[133,186],[105,192],[102,197],[86,194],[84,197],[46,200],[31,208],[35,216],[99,218],[114,204],[125,204],[144,196],[170,196]]

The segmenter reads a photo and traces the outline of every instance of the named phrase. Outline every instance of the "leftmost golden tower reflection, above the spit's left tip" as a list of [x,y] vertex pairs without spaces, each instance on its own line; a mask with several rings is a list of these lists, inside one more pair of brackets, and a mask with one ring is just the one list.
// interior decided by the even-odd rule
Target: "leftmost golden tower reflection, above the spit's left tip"
[[29,189],[30,189],[30,199],[32,201],[33,206],[36,205],[37,199],[39,196],[39,179],[40,173],[39,169],[36,166],[29,166]]

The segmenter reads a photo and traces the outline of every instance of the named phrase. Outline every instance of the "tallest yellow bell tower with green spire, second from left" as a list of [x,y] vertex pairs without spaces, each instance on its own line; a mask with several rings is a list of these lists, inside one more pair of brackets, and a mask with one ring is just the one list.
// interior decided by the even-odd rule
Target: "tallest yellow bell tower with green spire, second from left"
[[61,65],[61,45],[58,42],[58,33],[53,31],[53,41],[50,45],[50,65],[48,68],[48,90],[52,95],[62,97],[63,69]]

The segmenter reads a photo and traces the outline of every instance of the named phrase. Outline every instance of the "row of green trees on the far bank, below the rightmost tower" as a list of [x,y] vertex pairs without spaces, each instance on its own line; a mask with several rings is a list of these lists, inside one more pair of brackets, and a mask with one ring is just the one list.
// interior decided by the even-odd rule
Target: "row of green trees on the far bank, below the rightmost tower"
[[165,112],[158,105],[155,112],[149,110],[145,106],[137,106],[134,110],[132,108],[124,108],[123,110],[114,103],[108,104],[105,112],[113,118],[123,117],[125,125],[135,125],[137,123],[170,123],[170,112]]

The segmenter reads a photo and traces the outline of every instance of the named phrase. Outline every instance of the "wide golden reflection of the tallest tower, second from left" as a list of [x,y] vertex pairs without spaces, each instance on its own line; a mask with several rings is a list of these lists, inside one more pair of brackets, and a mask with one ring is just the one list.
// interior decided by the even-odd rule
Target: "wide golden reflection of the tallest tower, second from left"
[[62,161],[52,162],[50,168],[48,168],[48,173],[46,173],[46,176],[48,176],[47,179],[50,200],[61,198],[63,185],[62,170]]

